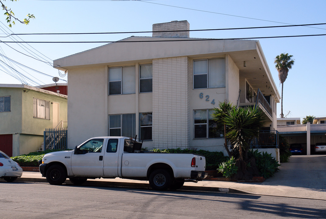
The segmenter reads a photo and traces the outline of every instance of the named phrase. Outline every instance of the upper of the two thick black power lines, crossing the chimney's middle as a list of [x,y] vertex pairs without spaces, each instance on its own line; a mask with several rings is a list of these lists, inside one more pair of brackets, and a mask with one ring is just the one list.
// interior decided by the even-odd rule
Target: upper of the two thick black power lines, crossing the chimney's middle
[[[312,23],[312,24],[291,24],[280,26],[262,26],[262,27],[238,27],[238,28],[218,28],[218,29],[198,29],[198,30],[163,30],[163,31],[128,31],[128,32],[101,32],[101,33],[34,33],[34,34],[10,34],[10,36],[18,35],[89,35],[89,34],[136,34],[136,33],[164,33],[164,32],[180,32],[180,31],[217,31],[217,30],[245,30],[245,29],[262,29],[262,28],[279,28],[279,27],[298,27],[298,26],[313,26],[324,25],[326,23]],[[5,38],[5,37],[2,37]]]

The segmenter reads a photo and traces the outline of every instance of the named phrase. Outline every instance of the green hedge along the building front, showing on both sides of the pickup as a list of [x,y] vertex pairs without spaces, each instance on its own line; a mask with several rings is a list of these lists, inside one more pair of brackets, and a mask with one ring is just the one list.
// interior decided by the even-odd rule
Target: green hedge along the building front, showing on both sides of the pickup
[[[70,150],[70,149],[68,149]],[[11,157],[14,161],[19,163],[21,167],[38,167],[38,160],[41,160],[46,153],[55,152],[60,150],[46,150],[42,152],[32,152],[29,154],[19,155],[17,157]],[[189,150],[189,149],[153,149],[155,152],[161,153],[197,153],[205,156],[206,158],[206,169],[217,169],[219,164],[225,162],[229,157],[224,156],[222,152],[209,152],[205,150]]]

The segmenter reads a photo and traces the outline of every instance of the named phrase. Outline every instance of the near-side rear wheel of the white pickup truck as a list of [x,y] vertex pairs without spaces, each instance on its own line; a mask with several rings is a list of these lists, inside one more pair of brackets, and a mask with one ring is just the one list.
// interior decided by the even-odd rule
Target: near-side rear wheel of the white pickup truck
[[149,176],[149,184],[154,190],[164,191],[171,185],[171,174],[165,169],[156,169]]

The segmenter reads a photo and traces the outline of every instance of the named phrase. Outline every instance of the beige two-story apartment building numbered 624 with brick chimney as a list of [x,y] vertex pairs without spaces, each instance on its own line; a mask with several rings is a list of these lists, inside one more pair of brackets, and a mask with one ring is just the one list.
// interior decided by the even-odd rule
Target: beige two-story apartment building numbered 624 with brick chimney
[[276,130],[280,95],[259,41],[189,38],[187,21],[153,31],[54,60],[68,73],[68,148],[138,135],[148,148],[223,151],[211,114],[225,100],[257,102]]

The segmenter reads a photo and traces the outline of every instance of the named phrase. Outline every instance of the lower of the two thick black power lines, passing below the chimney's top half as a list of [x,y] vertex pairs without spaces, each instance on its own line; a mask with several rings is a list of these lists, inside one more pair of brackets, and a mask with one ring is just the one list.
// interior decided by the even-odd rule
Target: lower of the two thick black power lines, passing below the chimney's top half
[[[145,43],[145,42],[173,42],[173,41],[213,41],[213,40],[240,40],[240,39],[268,39],[268,38],[286,38],[286,37],[316,37],[326,36],[326,34],[309,34],[309,35],[295,35],[295,36],[274,36],[274,37],[236,37],[236,38],[216,38],[216,39],[199,39],[199,38],[180,38],[169,40],[135,40],[135,41],[22,41],[18,43]],[[164,37],[160,37],[164,38]],[[167,37],[166,37],[167,38]],[[17,43],[13,41],[0,41],[2,43]]]

